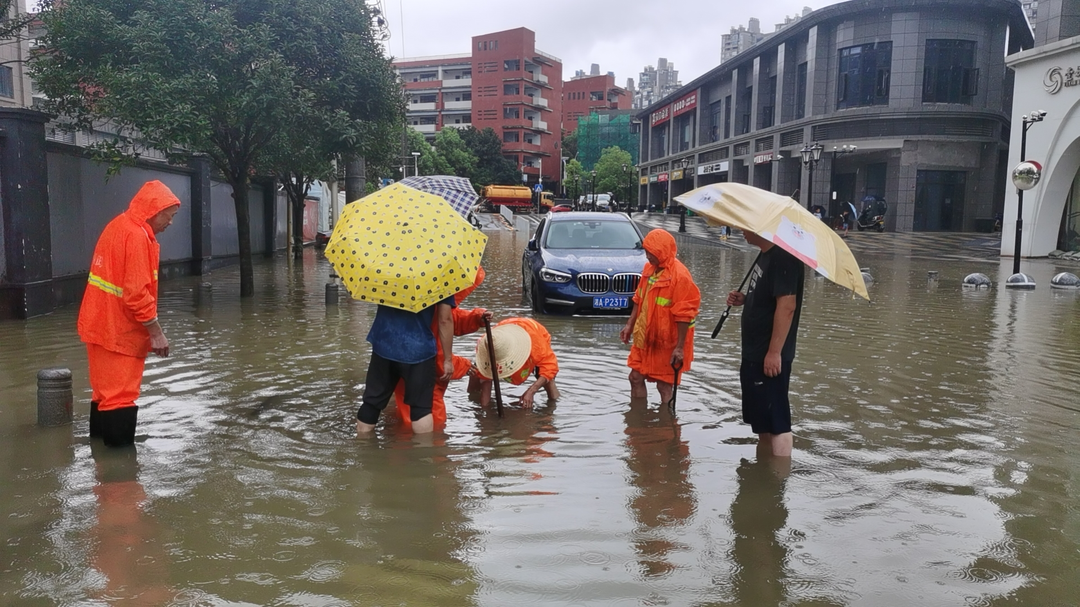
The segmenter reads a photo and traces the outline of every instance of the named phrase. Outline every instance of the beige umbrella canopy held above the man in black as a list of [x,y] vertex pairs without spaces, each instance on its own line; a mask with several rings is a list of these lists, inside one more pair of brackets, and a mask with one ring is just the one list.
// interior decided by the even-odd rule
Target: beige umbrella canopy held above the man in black
[[843,239],[794,200],[743,184],[711,184],[675,200],[714,224],[760,235],[869,300],[859,262]]

